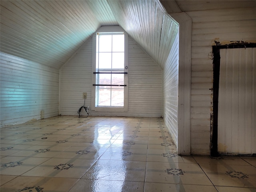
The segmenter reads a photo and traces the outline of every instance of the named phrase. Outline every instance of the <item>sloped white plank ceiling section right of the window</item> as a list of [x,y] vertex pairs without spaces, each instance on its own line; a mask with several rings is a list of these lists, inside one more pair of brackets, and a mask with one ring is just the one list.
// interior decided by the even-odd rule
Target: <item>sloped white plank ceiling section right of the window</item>
[[157,0],[108,0],[110,8],[122,28],[160,66],[166,62],[178,24],[168,16]]

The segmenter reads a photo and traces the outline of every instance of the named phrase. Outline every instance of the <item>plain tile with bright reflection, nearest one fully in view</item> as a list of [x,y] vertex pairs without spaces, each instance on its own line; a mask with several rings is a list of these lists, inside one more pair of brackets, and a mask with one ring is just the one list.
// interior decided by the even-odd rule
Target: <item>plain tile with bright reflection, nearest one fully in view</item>
[[98,160],[82,179],[144,182],[145,168],[146,162]]

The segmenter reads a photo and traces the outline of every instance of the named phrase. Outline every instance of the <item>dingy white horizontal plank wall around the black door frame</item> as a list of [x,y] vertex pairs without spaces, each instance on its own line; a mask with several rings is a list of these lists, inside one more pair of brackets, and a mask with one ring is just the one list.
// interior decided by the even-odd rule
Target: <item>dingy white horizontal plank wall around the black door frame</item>
[[210,154],[214,40],[256,41],[255,8],[186,12],[192,18],[191,154]]

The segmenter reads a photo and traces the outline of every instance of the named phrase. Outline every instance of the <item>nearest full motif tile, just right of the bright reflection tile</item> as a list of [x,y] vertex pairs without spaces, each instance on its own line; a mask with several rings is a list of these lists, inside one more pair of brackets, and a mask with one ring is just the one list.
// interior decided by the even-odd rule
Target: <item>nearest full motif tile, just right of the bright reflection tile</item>
[[198,164],[147,162],[146,182],[212,185]]

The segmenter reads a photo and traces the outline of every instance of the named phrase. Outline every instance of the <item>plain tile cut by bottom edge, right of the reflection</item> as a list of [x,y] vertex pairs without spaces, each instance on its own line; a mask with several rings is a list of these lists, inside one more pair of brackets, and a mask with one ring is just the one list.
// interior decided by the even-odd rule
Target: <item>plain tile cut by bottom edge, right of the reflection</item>
[[144,192],[218,192],[214,186],[145,182]]

